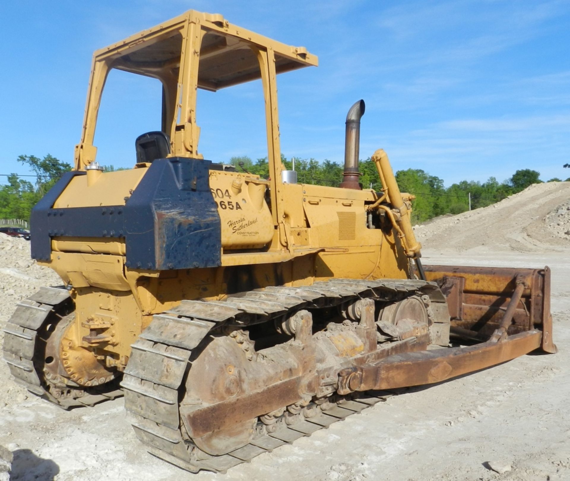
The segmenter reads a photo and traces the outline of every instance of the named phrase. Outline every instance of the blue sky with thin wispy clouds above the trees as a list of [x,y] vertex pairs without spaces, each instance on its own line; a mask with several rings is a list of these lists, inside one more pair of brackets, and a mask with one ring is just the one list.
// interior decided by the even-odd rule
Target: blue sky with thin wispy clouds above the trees
[[[394,170],[446,186],[522,168],[570,177],[568,0],[1,2],[0,173],[28,173],[19,154],[71,162],[92,52],[191,8],[319,56],[278,77],[287,157],[342,162],[345,115],[363,98],[361,157],[384,148]],[[259,82],[200,93],[200,152],[266,156],[263,115]],[[157,81],[112,72],[98,160],[132,166],[135,138],[159,128]]]

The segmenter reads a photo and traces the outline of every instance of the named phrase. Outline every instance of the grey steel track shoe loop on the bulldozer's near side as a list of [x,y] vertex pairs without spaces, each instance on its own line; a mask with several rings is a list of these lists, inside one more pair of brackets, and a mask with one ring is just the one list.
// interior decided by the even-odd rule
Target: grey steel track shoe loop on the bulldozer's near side
[[445,297],[434,283],[421,280],[332,279],[302,288],[268,287],[223,301],[182,301],[179,307],[154,315],[150,325],[132,345],[131,358],[121,382],[129,421],[149,453],[192,472],[225,472],[259,454],[309,436],[392,394],[361,393],[358,398],[337,397],[337,404],[317,406],[316,415],[303,417],[299,414],[287,423],[280,419],[274,432],[261,430],[259,437],[248,445],[229,454],[209,456],[189,439],[178,410],[178,402],[184,397],[185,374],[192,368],[189,362],[192,350],[210,332],[219,331],[222,325],[246,326],[272,321],[287,312],[331,307],[359,297],[391,300],[411,294],[430,297],[437,322],[437,304],[445,304]]

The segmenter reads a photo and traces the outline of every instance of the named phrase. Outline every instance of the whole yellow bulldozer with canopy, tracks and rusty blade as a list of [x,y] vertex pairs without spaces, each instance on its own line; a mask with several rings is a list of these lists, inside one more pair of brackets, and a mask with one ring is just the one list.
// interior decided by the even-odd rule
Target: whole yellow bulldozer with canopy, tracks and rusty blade
[[[74,169],[31,214],[32,258],[63,286],[6,325],[19,384],[64,409],[124,396],[151,454],[224,472],[398,389],[556,352],[548,267],[422,266],[384,150],[381,191],[363,189],[364,101],[340,186],[286,169],[276,77],[317,64],[193,10],[95,52]],[[160,80],[161,130],[133,139],[133,168],[104,172],[93,138],[113,69]],[[198,89],[254,80],[267,178],[198,151]]]

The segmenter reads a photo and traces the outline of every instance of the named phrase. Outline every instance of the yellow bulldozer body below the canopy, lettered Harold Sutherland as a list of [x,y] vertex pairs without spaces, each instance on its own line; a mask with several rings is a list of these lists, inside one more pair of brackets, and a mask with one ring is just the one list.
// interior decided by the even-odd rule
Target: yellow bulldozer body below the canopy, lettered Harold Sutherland
[[[54,207],[84,207],[103,198],[103,205],[124,203],[124,194],[136,187],[145,169],[101,173],[91,186],[86,185],[86,176],[76,177]],[[242,185],[237,194],[232,189],[236,184]],[[89,348],[82,341],[89,334],[88,319],[111,315],[117,320],[108,329],[113,341],[97,352],[109,357],[107,364],[122,358],[126,365],[131,344],[152,315],[182,299],[223,299],[253,288],[310,286],[329,278],[409,277],[410,264],[394,231],[367,227],[365,206],[374,202],[376,194],[285,184],[286,217],[281,229],[274,229],[264,198],[266,184],[243,173],[210,171],[222,221],[221,267],[131,269],[125,267],[125,243],[120,239],[52,238],[53,252],[46,264],[74,287],[78,345]],[[272,245],[277,248],[267,248]],[[81,327],[82,323],[86,325]]]

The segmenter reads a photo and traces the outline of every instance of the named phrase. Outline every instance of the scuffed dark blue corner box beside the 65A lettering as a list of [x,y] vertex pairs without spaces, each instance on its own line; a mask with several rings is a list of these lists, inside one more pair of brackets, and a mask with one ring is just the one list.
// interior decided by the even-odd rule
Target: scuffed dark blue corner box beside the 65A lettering
[[152,162],[124,207],[128,267],[221,265],[221,222],[210,191],[210,164],[180,157]]

